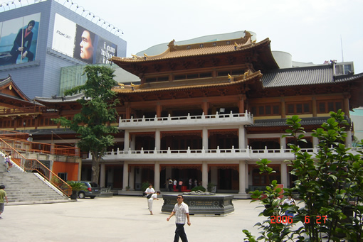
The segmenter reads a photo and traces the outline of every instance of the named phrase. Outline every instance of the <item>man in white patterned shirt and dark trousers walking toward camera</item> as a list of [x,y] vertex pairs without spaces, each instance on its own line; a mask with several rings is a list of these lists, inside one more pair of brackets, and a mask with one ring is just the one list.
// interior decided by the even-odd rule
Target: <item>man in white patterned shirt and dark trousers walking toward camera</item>
[[186,238],[186,233],[184,231],[184,224],[186,220],[189,226],[191,223],[189,219],[189,207],[183,201],[183,195],[179,194],[177,197],[177,204],[175,204],[172,214],[167,218],[167,221],[169,221],[175,214],[175,225],[177,226],[177,229],[175,229],[174,242],[178,242],[179,237],[181,238],[181,241],[188,242],[188,238]]

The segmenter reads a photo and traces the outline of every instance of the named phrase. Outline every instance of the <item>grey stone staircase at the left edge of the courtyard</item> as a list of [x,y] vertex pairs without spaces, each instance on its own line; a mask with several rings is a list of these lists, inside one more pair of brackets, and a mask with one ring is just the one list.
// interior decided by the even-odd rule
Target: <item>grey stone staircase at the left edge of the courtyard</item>
[[6,172],[4,158],[0,156],[0,185],[5,185],[9,205],[68,202],[61,192],[56,192],[36,173],[23,172],[14,165]]

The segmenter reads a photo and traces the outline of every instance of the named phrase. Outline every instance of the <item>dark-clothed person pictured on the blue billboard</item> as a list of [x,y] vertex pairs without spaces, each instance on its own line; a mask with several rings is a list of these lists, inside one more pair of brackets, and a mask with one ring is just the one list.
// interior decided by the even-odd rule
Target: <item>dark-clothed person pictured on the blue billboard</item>
[[33,40],[33,28],[36,22],[31,20],[26,28],[22,28],[14,40],[14,46],[10,51],[10,63],[16,64],[19,55],[21,55],[21,60],[28,58],[28,61],[33,61],[34,54],[31,53],[31,41]]

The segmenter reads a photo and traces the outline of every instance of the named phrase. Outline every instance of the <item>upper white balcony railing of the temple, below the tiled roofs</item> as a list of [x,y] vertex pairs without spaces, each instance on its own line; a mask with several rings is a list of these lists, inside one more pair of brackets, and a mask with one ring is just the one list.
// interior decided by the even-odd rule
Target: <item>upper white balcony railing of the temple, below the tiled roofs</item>
[[226,126],[226,125],[250,125],[253,124],[253,115],[248,114],[211,114],[197,116],[167,116],[142,119],[120,119],[120,129],[140,128],[172,128],[187,126]]

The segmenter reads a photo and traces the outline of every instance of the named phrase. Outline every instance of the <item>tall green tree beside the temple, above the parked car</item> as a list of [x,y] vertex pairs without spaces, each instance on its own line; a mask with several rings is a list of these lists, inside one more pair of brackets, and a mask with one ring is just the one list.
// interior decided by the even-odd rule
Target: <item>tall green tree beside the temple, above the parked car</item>
[[117,127],[110,126],[117,121],[115,106],[119,103],[112,91],[112,87],[117,85],[113,72],[110,67],[86,66],[83,73],[87,76],[85,84],[65,92],[65,95],[83,92],[84,97],[78,100],[82,105],[80,113],[75,114],[72,120],[65,117],[53,120],[78,133],[78,147],[92,154],[92,182],[97,183],[100,160],[107,148],[114,144],[112,133],[117,133]]

